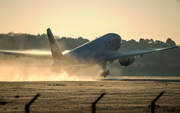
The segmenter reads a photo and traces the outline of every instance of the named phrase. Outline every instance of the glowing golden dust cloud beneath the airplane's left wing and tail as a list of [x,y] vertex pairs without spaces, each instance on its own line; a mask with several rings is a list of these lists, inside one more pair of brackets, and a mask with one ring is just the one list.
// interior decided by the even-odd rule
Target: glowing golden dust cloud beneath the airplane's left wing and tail
[[0,54],[0,81],[94,81],[101,70],[95,65],[68,75],[65,71],[52,72],[51,63],[52,60]]

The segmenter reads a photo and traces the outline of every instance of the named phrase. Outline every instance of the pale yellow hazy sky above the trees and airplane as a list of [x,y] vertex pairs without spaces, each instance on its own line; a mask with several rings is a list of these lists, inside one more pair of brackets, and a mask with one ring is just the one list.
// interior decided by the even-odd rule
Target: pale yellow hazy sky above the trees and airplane
[[180,44],[180,0],[0,0],[0,33],[88,38],[117,33]]

